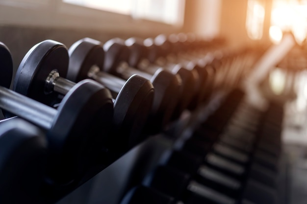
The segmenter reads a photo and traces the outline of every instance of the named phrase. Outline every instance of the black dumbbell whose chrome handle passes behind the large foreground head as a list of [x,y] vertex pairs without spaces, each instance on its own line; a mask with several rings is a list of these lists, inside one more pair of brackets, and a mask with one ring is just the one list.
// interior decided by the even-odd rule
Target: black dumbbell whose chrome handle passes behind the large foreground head
[[[17,71],[17,80],[15,80],[14,90],[51,106],[53,100],[58,98],[58,95],[65,95],[76,85],[75,82],[60,77],[60,75],[66,76],[69,64],[76,66],[82,65],[84,68],[90,68],[92,65],[97,64],[98,58],[89,55],[89,58],[80,61],[80,56],[78,55],[77,59],[74,58],[71,60],[66,47],[55,41],[44,41],[39,46],[45,47],[47,56],[42,56],[41,62],[35,65],[31,63],[21,65],[21,69]],[[56,49],[51,50],[49,46],[56,47]],[[29,59],[33,58],[31,56],[37,55],[36,53],[38,51],[36,50],[37,48],[33,50],[32,54],[28,55],[27,62]],[[61,56],[58,57],[57,55]],[[51,64],[52,61],[57,61],[58,64]],[[77,63],[80,64],[77,65]],[[30,69],[31,72],[27,71],[26,73],[29,74],[23,74],[23,79],[21,79],[19,75],[25,72],[25,67],[26,69]],[[34,69],[34,67],[36,68]],[[42,73],[40,74],[38,72]],[[30,80],[30,76],[34,73],[34,79]],[[35,79],[35,77],[37,78]],[[146,79],[136,75],[131,76],[127,82],[118,79],[121,87],[116,85],[116,83],[112,84],[112,79],[113,78],[106,78],[105,80],[111,83],[111,86],[108,87],[112,87],[118,91],[114,103],[113,120],[107,118],[107,120],[110,121],[102,122],[101,129],[107,130],[105,125],[113,127],[113,136],[108,139],[108,143],[114,147],[114,151],[116,152],[126,151],[129,147],[133,146],[135,140],[139,139],[138,136],[143,128],[143,121],[146,121],[149,115],[149,109],[151,108],[153,100],[153,86]],[[95,82],[95,84],[98,83]],[[25,87],[29,90],[26,90]],[[41,88],[35,89],[35,87]],[[82,97],[82,95],[80,95],[80,97]],[[106,116],[102,117],[106,118]],[[112,122],[112,124],[110,122]],[[118,143],[118,141],[121,142]]]

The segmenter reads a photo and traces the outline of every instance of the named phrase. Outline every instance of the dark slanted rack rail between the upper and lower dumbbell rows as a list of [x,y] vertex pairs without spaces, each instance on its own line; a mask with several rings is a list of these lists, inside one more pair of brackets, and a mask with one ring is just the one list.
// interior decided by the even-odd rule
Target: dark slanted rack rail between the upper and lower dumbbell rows
[[[214,115],[216,110],[221,109],[223,105],[225,106],[227,98],[231,94],[233,93],[226,91],[216,92],[202,107],[174,122],[165,133],[155,135],[139,144],[56,204],[119,204],[130,188],[141,183],[146,175],[153,171],[166,151],[179,146],[184,138],[195,132],[210,115]],[[229,118],[225,120],[225,124],[233,116],[239,101],[232,104]],[[274,197],[276,203],[286,204],[288,200],[286,192],[287,161],[282,156],[282,152],[279,161],[278,188]],[[255,195],[250,196],[261,197],[261,194],[256,192]]]

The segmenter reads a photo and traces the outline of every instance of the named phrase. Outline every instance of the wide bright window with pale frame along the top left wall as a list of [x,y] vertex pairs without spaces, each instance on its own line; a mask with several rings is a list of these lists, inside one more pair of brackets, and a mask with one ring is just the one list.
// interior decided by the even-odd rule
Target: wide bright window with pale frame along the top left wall
[[180,30],[183,23],[184,2],[184,0],[0,0],[0,24],[157,35]]

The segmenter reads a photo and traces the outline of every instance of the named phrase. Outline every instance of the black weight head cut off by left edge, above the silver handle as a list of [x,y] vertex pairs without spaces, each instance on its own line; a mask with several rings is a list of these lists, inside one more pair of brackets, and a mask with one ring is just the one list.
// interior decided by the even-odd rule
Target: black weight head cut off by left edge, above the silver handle
[[13,76],[13,61],[8,48],[0,42],[0,86],[9,88]]

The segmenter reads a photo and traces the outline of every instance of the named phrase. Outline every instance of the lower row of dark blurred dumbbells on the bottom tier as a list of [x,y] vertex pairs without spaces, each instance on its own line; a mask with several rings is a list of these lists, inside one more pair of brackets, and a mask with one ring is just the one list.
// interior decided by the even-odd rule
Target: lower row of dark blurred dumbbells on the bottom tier
[[263,112],[242,97],[233,91],[191,137],[166,151],[120,203],[281,203],[282,106],[270,104]]

